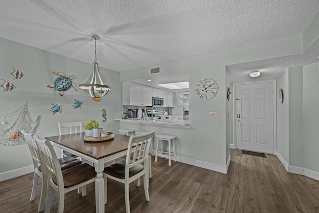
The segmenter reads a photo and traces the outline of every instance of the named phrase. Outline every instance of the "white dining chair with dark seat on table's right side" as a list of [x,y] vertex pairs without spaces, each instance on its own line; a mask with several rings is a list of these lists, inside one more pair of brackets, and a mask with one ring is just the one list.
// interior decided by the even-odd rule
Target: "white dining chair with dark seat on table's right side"
[[[146,201],[150,201],[148,186],[149,150],[155,131],[144,135],[131,136],[126,160],[104,168],[105,204],[107,203],[107,178],[124,184],[126,212],[130,213],[130,183],[143,176]],[[133,157],[132,157],[132,155]],[[143,164],[143,165],[142,165]]]

